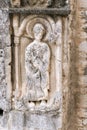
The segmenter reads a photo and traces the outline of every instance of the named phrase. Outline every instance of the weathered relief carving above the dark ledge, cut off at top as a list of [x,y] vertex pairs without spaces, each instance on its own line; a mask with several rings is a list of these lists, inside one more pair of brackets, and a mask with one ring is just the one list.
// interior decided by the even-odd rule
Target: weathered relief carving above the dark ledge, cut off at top
[[11,5],[14,7],[61,7],[66,4],[66,0],[10,0]]

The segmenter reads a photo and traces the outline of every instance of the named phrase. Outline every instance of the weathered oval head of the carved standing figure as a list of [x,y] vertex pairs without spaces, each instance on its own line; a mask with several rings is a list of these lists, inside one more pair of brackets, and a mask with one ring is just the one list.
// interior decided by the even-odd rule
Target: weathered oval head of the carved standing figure
[[45,29],[44,29],[42,24],[37,23],[37,24],[35,24],[35,26],[33,28],[33,32],[34,32],[35,39],[36,40],[41,40],[44,33],[45,33]]

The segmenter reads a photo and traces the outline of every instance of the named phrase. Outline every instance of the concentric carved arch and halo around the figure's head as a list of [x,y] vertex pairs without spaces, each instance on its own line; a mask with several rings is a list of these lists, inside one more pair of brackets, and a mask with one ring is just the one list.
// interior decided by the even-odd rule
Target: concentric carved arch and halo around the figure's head
[[33,27],[36,23],[40,23],[46,30],[46,34],[44,37],[45,41],[51,41],[51,35],[54,34],[55,30],[55,22],[49,16],[28,16],[26,17],[21,26],[19,27],[18,35],[23,35],[24,30],[26,29],[27,37],[33,39]]

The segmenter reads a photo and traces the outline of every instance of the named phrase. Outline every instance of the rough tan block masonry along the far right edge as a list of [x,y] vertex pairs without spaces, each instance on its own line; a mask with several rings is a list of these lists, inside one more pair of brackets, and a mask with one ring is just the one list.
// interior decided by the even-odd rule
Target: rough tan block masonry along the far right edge
[[87,129],[87,1],[77,3],[77,130]]

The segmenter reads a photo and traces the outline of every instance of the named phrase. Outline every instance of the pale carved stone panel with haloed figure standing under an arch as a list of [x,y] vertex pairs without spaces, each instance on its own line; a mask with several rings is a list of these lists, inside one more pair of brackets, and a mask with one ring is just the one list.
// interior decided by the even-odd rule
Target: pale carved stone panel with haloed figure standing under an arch
[[[20,25],[20,26],[19,26]],[[60,111],[62,101],[62,20],[29,15],[14,28],[14,99],[17,110]]]

